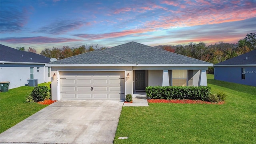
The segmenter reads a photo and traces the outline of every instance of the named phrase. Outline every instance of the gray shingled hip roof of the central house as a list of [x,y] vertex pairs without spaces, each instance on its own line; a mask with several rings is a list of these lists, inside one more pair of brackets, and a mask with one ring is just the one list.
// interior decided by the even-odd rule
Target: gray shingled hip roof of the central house
[[133,64],[134,66],[202,64],[204,66],[212,66],[209,62],[146,46],[137,42],[129,42],[105,50],[94,50],[48,64],[52,66],[55,64]]

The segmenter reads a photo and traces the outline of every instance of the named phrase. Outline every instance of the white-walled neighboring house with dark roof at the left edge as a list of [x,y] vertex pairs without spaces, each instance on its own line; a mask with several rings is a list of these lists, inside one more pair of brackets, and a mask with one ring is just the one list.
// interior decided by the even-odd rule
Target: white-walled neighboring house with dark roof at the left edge
[[38,84],[51,81],[51,67],[45,64],[50,58],[33,52],[20,51],[0,45],[0,82],[9,81],[9,89],[28,84],[37,79]]

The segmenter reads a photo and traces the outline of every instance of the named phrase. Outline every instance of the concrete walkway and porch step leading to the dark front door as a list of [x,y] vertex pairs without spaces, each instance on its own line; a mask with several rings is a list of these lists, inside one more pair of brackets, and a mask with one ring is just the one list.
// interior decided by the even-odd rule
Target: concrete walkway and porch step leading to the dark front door
[[124,103],[124,106],[148,106],[145,92],[137,92],[132,95],[132,103]]

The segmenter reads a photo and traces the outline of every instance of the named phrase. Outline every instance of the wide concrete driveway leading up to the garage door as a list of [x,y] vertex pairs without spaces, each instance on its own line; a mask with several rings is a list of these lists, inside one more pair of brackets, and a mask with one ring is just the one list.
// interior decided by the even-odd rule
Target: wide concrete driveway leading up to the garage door
[[60,100],[0,134],[0,142],[111,144],[122,106],[118,100]]

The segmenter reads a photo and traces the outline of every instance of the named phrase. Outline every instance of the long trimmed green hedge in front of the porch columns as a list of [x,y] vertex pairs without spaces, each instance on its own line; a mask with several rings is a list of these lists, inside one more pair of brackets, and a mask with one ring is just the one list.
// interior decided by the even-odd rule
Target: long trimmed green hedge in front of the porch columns
[[210,95],[209,86],[148,86],[147,98],[206,100]]

